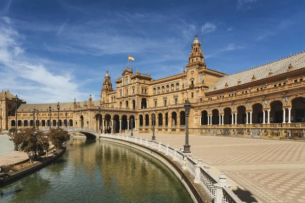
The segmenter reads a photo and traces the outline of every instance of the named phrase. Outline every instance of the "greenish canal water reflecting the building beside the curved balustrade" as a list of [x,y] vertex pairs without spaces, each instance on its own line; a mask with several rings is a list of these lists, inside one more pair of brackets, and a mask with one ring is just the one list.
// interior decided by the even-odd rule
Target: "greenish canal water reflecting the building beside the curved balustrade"
[[0,202],[192,202],[160,161],[128,146],[71,139],[66,153],[0,188]]

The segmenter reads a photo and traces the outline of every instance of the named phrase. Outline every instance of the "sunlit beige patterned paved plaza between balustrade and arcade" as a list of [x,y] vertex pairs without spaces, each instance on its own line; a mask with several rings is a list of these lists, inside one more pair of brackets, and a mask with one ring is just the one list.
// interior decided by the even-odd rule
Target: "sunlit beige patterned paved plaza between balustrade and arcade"
[[[151,133],[135,133],[151,139]],[[185,136],[156,134],[157,142],[183,149]],[[305,142],[190,136],[193,157],[215,176],[225,173],[245,202],[305,202]]]

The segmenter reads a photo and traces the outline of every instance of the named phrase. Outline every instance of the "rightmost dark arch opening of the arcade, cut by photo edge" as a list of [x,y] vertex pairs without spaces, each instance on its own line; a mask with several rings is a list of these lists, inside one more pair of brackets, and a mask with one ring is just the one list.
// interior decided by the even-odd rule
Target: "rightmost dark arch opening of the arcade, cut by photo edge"
[[[295,97],[291,101],[291,122],[303,123],[305,122],[305,98]],[[286,114],[287,116],[287,114]]]

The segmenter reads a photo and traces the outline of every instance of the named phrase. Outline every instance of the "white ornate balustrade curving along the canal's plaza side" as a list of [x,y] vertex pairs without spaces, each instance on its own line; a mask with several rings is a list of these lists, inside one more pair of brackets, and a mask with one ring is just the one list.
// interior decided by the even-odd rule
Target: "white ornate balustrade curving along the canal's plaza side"
[[[75,128],[74,130],[77,129],[79,128]],[[90,130],[88,128],[85,129]],[[194,176],[194,183],[200,184],[209,194],[213,202],[241,203],[241,200],[230,190],[231,185],[227,183],[226,176],[224,174],[219,176],[219,179],[217,179],[206,170],[201,159],[196,160],[192,158],[190,154],[180,152],[178,147],[173,149],[169,146],[169,143],[164,145],[162,142],[157,143],[147,139],[144,140],[142,138],[124,136],[120,134],[101,134],[101,138],[102,137],[126,140],[160,151],[161,153],[164,153],[172,158],[172,160],[177,161],[182,166],[182,169],[189,171]]]

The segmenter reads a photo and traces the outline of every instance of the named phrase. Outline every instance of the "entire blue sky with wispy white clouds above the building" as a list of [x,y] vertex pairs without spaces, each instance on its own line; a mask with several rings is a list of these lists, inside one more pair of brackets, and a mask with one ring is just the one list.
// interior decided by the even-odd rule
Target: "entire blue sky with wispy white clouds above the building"
[[106,71],[178,74],[194,36],[236,73],[305,51],[305,2],[1,0],[0,86],[27,103],[99,99]]

